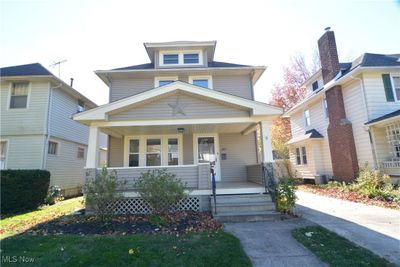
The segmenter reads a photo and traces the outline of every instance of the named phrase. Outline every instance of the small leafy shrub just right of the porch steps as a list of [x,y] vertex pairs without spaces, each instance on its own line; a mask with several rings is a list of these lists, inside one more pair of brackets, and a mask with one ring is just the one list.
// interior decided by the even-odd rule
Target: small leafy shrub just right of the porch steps
[[279,179],[275,188],[275,205],[276,209],[282,213],[293,213],[296,205],[294,180],[289,177]]

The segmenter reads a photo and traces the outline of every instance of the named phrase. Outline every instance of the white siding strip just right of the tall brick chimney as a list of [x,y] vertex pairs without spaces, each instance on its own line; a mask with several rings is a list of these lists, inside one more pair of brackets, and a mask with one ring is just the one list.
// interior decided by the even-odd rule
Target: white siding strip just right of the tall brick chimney
[[346,117],[353,127],[358,165],[368,163],[374,167],[374,158],[369,133],[365,127],[368,121],[361,86],[359,81],[351,81],[342,86]]

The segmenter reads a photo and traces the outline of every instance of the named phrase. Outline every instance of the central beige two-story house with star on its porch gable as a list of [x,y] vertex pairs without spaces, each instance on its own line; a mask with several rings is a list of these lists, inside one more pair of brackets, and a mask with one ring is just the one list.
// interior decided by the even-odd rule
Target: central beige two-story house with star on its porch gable
[[110,103],[74,115],[90,127],[86,167],[98,167],[104,132],[109,167],[129,190],[140,173],[162,167],[187,183],[195,203],[205,197],[199,205],[209,209],[212,165],[219,194],[264,192],[260,163],[272,161],[269,127],[282,114],[254,100],[265,67],[214,61],[214,41],[144,46],[151,63],[96,71],[110,88]]

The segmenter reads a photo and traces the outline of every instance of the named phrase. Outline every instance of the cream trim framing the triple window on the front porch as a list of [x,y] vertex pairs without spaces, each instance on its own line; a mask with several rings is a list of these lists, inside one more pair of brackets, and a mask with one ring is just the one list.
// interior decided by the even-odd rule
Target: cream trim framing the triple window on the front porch
[[[178,139],[178,165],[168,165],[168,139]],[[139,140],[139,166],[129,167],[129,140]],[[183,165],[183,134],[159,135],[127,135],[124,137],[124,167],[143,168],[146,166],[147,139],[161,139],[161,167],[177,167]],[[157,166],[159,167],[159,166]]]

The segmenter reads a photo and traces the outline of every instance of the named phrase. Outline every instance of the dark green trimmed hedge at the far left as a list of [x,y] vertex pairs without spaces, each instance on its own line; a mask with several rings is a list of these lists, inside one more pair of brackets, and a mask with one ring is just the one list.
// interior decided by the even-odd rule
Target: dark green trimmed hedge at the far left
[[50,172],[2,170],[0,175],[2,214],[35,210],[44,204],[50,184]]

